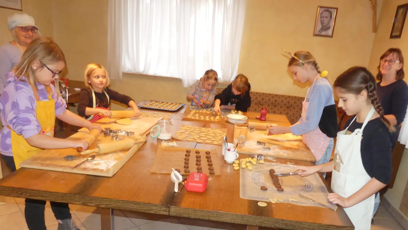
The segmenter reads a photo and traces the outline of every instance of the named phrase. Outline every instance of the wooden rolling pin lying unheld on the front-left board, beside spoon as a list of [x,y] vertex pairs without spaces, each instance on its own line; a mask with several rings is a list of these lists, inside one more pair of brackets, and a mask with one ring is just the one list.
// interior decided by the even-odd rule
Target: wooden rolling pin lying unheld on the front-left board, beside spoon
[[124,140],[118,140],[115,142],[101,143],[98,144],[98,146],[95,149],[89,149],[81,152],[81,155],[88,155],[91,153],[99,154],[113,153],[117,151],[131,149],[135,144],[144,142],[146,142],[146,136],[142,137],[139,140],[132,140],[130,138],[126,138]]

